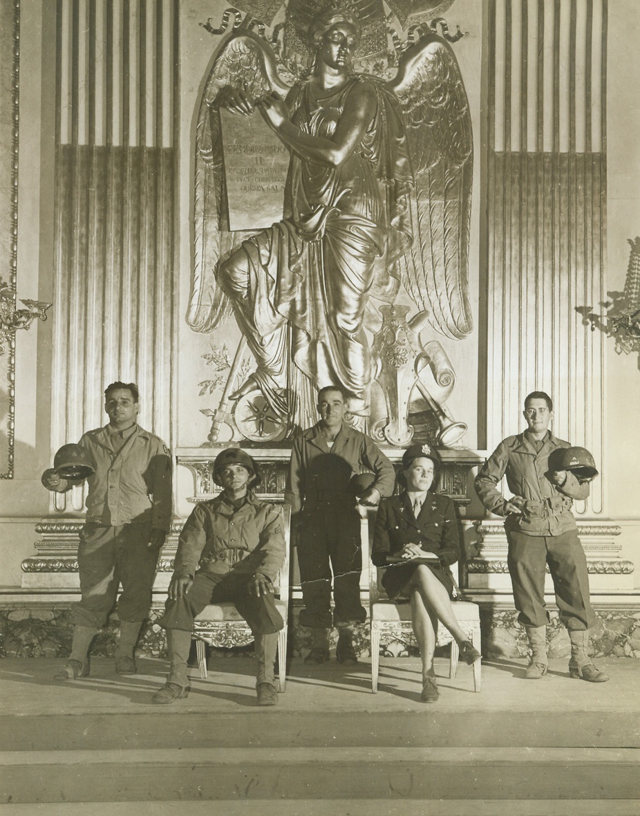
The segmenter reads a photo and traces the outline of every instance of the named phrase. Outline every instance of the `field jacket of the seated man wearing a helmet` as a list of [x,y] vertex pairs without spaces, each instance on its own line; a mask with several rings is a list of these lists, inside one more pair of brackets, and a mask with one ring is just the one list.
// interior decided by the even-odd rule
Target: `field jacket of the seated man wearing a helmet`
[[[232,565],[236,557],[240,560]],[[285,563],[285,533],[276,508],[248,493],[234,508],[224,493],[196,504],[180,533],[174,578],[196,570],[226,574],[261,573],[276,581]]]

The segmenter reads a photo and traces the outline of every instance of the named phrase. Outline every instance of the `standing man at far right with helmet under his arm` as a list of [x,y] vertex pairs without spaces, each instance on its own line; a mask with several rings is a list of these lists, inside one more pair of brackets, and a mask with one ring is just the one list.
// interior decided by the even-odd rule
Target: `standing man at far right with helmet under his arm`
[[[475,490],[488,510],[506,517],[507,565],[514,602],[532,650],[525,677],[538,680],[547,672],[548,565],[560,620],[571,641],[569,674],[602,683],[608,676],[594,666],[587,654],[588,630],[595,618],[589,601],[585,552],[572,514],[573,500],[589,496],[589,481],[598,471],[588,450],[572,448],[549,432],[553,408],[544,391],[527,396],[523,411],[527,430],[501,441],[480,468]],[[514,494],[510,499],[505,499],[497,487],[503,476]]]

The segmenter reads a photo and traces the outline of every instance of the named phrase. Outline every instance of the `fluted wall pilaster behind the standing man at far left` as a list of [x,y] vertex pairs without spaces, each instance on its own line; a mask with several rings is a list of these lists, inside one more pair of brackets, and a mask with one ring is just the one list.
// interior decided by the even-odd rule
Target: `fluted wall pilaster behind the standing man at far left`
[[175,0],[57,3],[53,450],[104,424],[115,379],[170,441],[177,18]]

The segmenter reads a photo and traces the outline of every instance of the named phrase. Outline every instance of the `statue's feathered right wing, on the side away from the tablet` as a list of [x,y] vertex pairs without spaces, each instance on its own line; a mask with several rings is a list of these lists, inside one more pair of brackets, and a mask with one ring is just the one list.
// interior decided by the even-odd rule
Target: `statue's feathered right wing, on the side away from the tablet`
[[404,285],[431,326],[461,339],[473,329],[468,265],[473,180],[469,102],[452,48],[428,34],[408,48],[390,83],[404,112],[415,175],[413,245]]

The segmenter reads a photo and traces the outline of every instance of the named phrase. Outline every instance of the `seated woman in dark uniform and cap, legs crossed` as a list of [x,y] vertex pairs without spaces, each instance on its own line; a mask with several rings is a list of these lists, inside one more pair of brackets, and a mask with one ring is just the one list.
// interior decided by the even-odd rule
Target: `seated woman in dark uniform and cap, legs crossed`
[[439,463],[439,455],[428,445],[404,451],[398,474],[404,491],[382,499],[373,534],[373,563],[386,567],[382,585],[387,595],[411,602],[424,703],[435,703],[439,696],[433,668],[439,621],[452,633],[466,663],[480,658],[451,605],[454,583],[449,566],[460,557],[460,541],[452,500],[431,490]]

